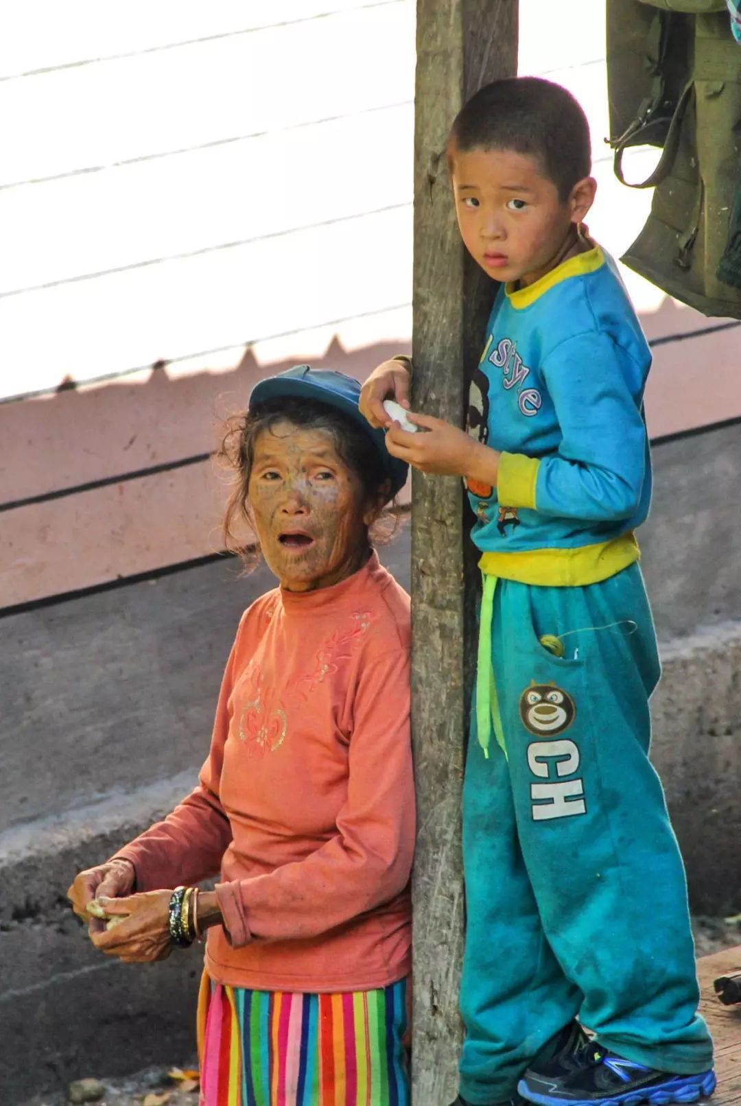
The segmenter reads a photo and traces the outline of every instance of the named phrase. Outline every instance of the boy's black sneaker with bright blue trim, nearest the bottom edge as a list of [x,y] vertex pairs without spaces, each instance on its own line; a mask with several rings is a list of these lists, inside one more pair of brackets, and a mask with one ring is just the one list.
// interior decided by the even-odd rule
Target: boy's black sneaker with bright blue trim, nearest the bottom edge
[[565,1076],[528,1071],[518,1093],[538,1106],[668,1106],[696,1103],[716,1089],[712,1071],[699,1075],[671,1075],[624,1060],[592,1042],[576,1054],[577,1064]]

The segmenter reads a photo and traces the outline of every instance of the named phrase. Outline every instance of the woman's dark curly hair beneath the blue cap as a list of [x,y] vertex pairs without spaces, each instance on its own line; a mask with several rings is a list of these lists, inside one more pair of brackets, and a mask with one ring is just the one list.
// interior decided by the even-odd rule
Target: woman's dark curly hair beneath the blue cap
[[[306,399],[272,399],[252,410],[240,411],[226,421],[217,460],[232,473],[232,490],[223,517],[225,547],[238,553],[246,567],[257,561],[254,528],[250,515],[249,486],[254,462],[254,445],[263,431],[278,422],[292,422],[303,430],[325,430],[332,435],[340,458],[361,481],[369,502],[386,501],[388,477],[378,450],[352,418],[324,404]],[[393,505],[393,504],[392,504]],[[382,510],[366,531],[368,545],[383,544],[396,532],[397,520]],[[249,535],[249,536],[248,536]]]

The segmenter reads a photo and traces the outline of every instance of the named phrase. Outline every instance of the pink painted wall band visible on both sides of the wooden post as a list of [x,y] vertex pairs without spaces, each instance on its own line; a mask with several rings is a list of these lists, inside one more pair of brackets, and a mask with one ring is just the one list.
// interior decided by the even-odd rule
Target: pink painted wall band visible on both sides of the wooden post
[[[643,322],[649,338],[706,331],[656,347],[646,395],[653,437],[741,416],[741,327],[714,331],[721,321],[670,301]],[[363,378],[403,349],[335,345],[312,364]],[[136,382],[2,405],[0,504],[209,453],[222,417],[244,405],[252,385],[301,359],[258,366],[248,355],[231,372],[175,379],[164,367]],[[208,459],[3,511],[0,607],[220,551],[225,480]]]

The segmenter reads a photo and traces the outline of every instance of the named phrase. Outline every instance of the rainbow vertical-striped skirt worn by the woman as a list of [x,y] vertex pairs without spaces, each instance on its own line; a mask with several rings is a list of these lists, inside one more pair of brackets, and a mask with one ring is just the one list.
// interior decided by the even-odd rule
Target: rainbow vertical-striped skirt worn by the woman
[[198,999],[200,1106],[409,1106],[407,981],[300,994],[213,983]]

